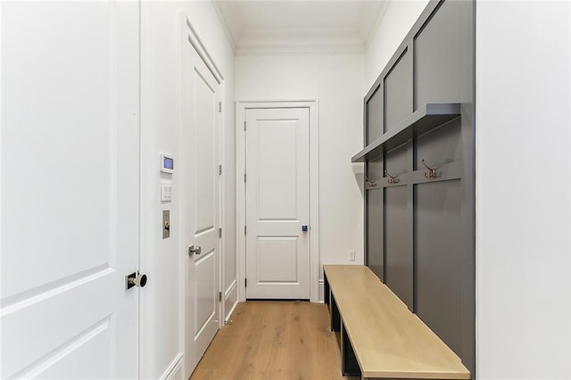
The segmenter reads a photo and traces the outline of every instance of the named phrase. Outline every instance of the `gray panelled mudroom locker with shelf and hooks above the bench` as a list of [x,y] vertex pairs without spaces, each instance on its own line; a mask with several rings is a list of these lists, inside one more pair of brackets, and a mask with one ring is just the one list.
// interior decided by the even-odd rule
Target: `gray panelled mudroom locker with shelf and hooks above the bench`
[[475,371],[475,2],[432,1],[364,100],[366,264]]

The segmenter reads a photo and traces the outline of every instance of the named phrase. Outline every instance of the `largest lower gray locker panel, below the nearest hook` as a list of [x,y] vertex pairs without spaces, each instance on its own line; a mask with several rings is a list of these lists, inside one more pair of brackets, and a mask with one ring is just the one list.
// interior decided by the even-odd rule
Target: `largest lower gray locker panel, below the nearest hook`
[[452,350],[460,350],[462,184],[415,186],[415,310]]

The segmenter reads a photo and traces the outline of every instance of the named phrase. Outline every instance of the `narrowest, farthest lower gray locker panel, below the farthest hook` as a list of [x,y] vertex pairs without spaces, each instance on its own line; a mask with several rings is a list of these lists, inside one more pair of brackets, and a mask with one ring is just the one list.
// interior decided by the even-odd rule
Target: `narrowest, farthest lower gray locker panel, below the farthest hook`
[[385,282],[385,258],[383,257],[383,227],[382,222],[382,199],[383,190],[367,190],[367,265],[381,281]]

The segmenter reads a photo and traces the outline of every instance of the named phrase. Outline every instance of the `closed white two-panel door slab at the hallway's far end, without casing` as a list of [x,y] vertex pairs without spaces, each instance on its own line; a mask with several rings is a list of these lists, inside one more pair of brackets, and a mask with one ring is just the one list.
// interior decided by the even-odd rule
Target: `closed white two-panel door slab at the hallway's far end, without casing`
[[246,109],[245,120],[246,298],[309,299],[309,109]]

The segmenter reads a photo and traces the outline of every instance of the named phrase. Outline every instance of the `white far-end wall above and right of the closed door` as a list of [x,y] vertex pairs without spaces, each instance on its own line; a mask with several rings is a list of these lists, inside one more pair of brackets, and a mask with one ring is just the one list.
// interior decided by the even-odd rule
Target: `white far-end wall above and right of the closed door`
[[362,169],[351,157],[363,145],[364,63],[362,54],[236,57],[237,101],[319,100],[319,268],[363,262]]

